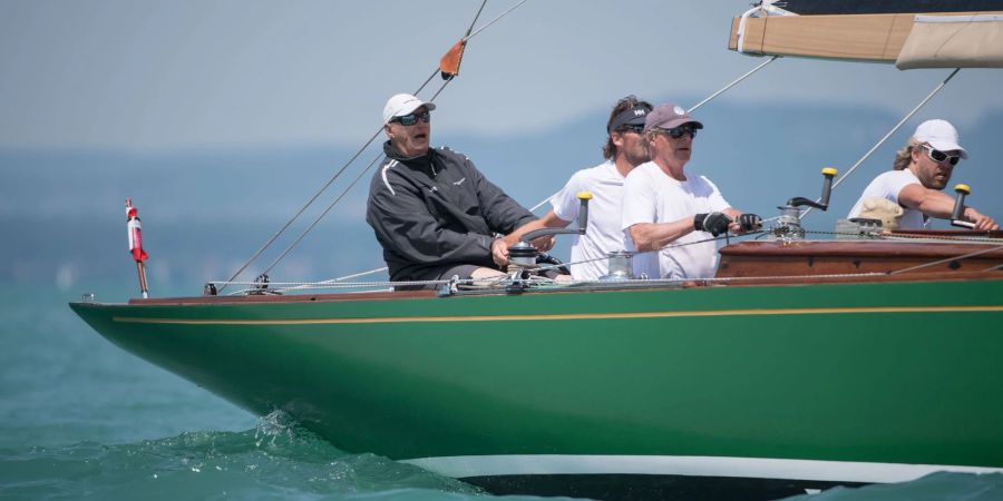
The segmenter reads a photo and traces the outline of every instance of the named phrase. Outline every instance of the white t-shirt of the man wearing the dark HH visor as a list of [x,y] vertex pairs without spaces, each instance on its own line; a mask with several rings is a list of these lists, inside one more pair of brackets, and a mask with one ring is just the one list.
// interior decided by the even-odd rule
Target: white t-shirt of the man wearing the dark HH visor
[[575,236],[571,259],[573,263],[597,261],[573,264],[572,277],[578,281],[594,281],[610,273],[606,256],[611,252],[626,249],[623,232],[620,229],[623,176],[612,160],[578,170],[564,188],[551,198],[554,215],[573,223],[577,220],[578,209],[582,206],[582,202],[575,197],[578,191],[592,191],[592,199],[588,200],[588,228],[585,235]]

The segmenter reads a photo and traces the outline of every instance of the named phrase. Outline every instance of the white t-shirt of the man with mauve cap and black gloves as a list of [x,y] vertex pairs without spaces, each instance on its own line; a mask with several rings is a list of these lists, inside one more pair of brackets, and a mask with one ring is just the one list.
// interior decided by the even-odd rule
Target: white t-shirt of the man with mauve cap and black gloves
[[[631,170],[623,183],[623,228],[627,250],[636,252],[627,228],[637,223],[672,223],[697,214],[721,212],[729,204],[718,187],[703,176],[686,176],[680,183],[653,161]],[[634,255],[634,275],[646,273],[649,278],[709,278],[718,267],[718,246],[713,240],[679,246],[713,238],[707,232],[691,232],[660,252]]]

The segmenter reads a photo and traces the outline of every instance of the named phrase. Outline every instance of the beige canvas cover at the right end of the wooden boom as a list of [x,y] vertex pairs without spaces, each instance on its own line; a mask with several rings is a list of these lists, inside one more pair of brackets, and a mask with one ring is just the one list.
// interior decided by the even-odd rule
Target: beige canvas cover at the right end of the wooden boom
[[1003,68],[1003,14],[916,16],[895,66]]

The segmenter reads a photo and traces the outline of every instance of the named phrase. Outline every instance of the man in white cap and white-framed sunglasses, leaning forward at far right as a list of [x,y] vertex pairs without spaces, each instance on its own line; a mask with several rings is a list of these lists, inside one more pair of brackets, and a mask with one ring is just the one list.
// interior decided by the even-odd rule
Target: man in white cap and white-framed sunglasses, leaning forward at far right
[[[919,124],[905,148],[898,150],[893,170],[876,177],[847,218],[868,217],[885,222],[885,229],[924,229],[929,217],[950,218],[954,198],[941,190],[954,167],[968,154],[957,144],[957,130],[947,120]],[[965,220],[975,229],[999,229],[992,217],[966,207]]]

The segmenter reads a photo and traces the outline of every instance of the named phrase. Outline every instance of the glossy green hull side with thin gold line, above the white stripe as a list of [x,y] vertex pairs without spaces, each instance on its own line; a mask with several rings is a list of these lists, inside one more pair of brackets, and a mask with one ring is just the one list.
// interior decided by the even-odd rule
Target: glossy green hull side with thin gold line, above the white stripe
[[254,413],[432,469],[421,459],[1003,466],[1003,281],[359,297],[71,306]]

